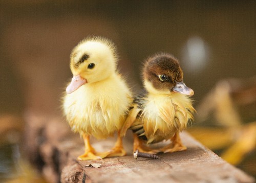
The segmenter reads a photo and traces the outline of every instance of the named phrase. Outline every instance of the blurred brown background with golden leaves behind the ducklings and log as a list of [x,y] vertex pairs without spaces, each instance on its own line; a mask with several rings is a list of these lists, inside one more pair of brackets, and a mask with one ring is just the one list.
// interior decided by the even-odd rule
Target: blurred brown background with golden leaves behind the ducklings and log
[[256,177],[255,1],[1,0],[0,179],[33,169],[17,166],[26,119],[61,117],[69,55],[89,35],[115,42],[134,93],[143,60],[157,52],[177,57],[198,111],[188,131]]

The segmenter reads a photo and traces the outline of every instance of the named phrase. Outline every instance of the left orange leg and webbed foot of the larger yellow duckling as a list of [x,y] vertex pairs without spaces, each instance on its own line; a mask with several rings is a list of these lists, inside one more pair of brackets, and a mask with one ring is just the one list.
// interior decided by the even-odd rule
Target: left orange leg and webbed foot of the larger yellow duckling
[[97,153],[95,151],[95,149],[91,146],[91,143],[90,143],[90,135],[83,134],[82,138],[85,146],[85,151],[84,151],[84,154],[77,157],[78,160],[86,161],[89,159],[102,159],[106,157],[106,155],[108,155],[108,154]]

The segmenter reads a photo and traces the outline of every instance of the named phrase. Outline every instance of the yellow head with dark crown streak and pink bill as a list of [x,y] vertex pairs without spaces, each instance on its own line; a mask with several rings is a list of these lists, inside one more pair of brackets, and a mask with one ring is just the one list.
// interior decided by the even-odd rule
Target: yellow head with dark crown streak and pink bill
[[116,71],[116,48],[102,37],[89,37],[80,41],[70,55],[70,68],[74,77],[67,87],[71,94],[86,83],[104,80]]

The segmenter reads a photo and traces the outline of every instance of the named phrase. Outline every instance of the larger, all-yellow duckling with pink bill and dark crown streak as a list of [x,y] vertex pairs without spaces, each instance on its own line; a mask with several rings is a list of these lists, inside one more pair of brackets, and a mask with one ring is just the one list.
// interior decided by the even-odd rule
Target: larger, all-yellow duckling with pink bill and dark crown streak
[[[132,103],[132,94],[116,71],[115,45],[102,37],[89,37],[78,43],[70,56],[74,75],[63,97],[63,111],[74,132],[83,138],[85,152],[79,160],[101,159],[126,154],[120,129]],[[106,139],[117,132],[114,148],[97,152],[90,136]]]

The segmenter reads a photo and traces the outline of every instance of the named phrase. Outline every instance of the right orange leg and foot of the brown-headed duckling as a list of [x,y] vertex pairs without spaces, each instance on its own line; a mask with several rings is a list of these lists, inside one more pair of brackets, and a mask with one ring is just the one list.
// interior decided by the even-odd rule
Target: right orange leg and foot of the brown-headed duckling
[[163,148],[161,148],[161,152],[177,152],[177,151],[185,151],[187,148],[182,144],[180,139],[180,133],[177,132],[172,137],[172,144],[167,145]]

